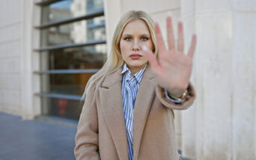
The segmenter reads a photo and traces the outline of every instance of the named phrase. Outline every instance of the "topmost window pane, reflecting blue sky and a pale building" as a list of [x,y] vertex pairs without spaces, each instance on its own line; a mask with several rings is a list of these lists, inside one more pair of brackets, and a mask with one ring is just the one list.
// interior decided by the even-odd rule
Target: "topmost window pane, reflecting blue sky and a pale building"
[[42,7],[42,24],[84,16],[103,8],[102,0],[63,0]]

